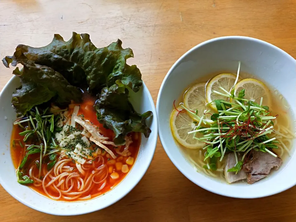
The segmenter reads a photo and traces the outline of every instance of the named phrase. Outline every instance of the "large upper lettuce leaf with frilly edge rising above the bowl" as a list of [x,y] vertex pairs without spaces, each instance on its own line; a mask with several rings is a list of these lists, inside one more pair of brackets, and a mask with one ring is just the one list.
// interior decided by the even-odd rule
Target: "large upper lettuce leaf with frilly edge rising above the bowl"
[[[88,34],[73,32],[69,41],[55,34],[47,46],[34,48],[27,45],[18,45],[17,51],[36,64],[53,68],[60,72],[70,84],[83,87],[93,93],[100,92],[103,87],[110,87],[116,80],[137,92],[142,85],[142,75],[136,65],[126,64],[128,58],[134,57],[130,48],[123,49],[121,40],[111,43],[107,47],[95,47]],[[11,64],[17,61],[13,56]],[[9,64],[3,61],[6,67]]]

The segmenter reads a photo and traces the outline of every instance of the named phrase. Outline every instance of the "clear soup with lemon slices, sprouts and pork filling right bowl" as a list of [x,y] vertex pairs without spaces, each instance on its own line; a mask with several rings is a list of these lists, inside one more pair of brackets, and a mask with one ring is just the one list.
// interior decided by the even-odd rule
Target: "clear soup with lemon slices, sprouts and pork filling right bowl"
[[287,101],[252,77],[210,74],[174,102],[172,134],[196,171],[252,184],[291,154],[295,129]]

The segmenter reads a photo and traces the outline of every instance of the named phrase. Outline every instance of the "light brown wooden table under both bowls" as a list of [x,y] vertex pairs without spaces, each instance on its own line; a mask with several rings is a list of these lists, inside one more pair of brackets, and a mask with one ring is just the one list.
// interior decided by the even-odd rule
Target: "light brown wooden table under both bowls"
[[[18,44],[35,47],[54,33],[89,33],[97,47],[123,41],[156,102],[169,68],[191,47],[225,35],[270,42],[296,57],[295,0],[1,0],[0,57]],[[225,52],[227,53],[227,52]],[[0,64],[0,89],[12,76]],[[5,130],[5,129],[2,129]],[[0,188],[0,221],[294,221],[296,187],[261,199],[212,194],[183,176],[158,141],[141,182],[104,210],[76,217],[37,212]]]

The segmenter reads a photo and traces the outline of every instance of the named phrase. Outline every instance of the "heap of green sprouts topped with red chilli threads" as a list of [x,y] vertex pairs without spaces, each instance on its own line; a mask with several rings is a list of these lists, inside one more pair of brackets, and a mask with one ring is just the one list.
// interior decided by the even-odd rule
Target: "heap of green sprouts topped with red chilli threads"
[[[220,87],[221,88],[221,87]],[[210,126],[195,127],[194,131],[188,134],[199,132],[204,134],[203,137],[195,138],[205,142],[203,149],[207,150],[204,154],[204,161],[207,164],[203,167],[208,170],[213,170],[216,167],[217,158],[222,161],[224,156],[230,152],[241,152],[242,160],[235,167],[232,167],[228,172],[239,172],[243,165],[243,159],[251,150],[266,152],[274,157],[277,157],[271,149],[277,149],[275,137],[269,138],[269,134],[273,132],[273,121],[276,117],[270,115],[269,107],[259,105],[257,102],[245,99],[245,89],[242,89],[238,96],[234,96],[234,90],[228,93],[221,88],[225,93],[224,97],[233,98],[233,102],[226,100],[214,100],[218,113],[211,114]],[[213,91],[216,94],[220,92]],[[229,95],[231,94],[231,95]],[[261,98],[260,104],[263,99]],[[184,107],[183,107],[184,108]],[[190,115],[194,115],[193,111],[184,108]],[[204,123],[207,125],[207,123]],[[214,165],[215,164],[215,165]]]

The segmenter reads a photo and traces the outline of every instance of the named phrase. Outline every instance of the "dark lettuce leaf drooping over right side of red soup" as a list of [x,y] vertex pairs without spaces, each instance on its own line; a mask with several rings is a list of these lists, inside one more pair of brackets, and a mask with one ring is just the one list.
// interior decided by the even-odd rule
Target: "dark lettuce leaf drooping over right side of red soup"
[[[121,86],[119,86],[121,85]],[[148,111],[143,114],[135,112],[128,101],[129,91],[122,84],[114,84],[103,88],[96,102],[97,119],[104,127],[113,130],[113,142],[118,145],[125,143],[125,136],[130,132],[142,132],[146,138],[151,130],[146,125],[146,118],[152,116]]]

